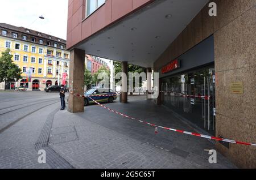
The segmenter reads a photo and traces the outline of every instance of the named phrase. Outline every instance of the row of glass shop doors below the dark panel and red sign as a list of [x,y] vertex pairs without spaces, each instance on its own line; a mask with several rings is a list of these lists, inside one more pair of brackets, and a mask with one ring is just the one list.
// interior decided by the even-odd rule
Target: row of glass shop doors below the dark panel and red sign
[[162,102],[215,135],[215,72],[203,68],[163,78]]

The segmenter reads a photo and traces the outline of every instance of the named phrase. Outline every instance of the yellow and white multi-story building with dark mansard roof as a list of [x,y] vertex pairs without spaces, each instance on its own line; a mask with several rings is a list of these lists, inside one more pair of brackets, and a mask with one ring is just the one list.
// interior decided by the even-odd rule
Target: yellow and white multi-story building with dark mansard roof
[[[63,73],[69,75],[69,52],[65,49],[66,41],[61,38],[0,23],[0,53],[7,48],[11,50],[13,62],[22,70],[22,79],[2,82],[0,90],[23,86],[43,91],[49,85],[59,85]],[[28,68],[32,72],[31,82],[26,79]]]

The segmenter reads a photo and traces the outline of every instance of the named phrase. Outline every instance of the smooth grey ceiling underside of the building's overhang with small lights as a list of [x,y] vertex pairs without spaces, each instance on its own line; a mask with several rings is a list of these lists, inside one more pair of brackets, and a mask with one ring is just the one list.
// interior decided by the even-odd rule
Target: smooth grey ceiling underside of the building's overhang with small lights
[[[208,0],[161,0],[77,46],[86,54],[152,67]],[[170,59],[171,60],[171,59]]]

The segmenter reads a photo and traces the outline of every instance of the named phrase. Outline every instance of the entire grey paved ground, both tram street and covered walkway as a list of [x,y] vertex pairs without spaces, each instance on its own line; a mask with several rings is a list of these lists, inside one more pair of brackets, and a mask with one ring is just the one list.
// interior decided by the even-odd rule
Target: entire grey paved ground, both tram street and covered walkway
[[[220,154],[217,164],[209,164],[204,149],[214,149],[214,145],[208,140],[166,130],[155,135],[154,128],[97,105],[86,106],[84,113],[56,113],[60,103],[48,100],[58,101],[58,96],[0,92],[0,130],[5,127],[0,131],[0,168],[236,168]],[[171,112],[144,98],[129,96],[127,104],[116,100],[105,105],[158,125],[193,131]],[[38,104],[33,105],[35,102]],[[31,106],[22,108],[24,105]],[[55,115],[50,126],[52,121],[47,119],[51,114]],[[47,164],[39,164],[35,144],[45,131],[49,132],[49,144],[44,148],[51,156],[48,153]]]

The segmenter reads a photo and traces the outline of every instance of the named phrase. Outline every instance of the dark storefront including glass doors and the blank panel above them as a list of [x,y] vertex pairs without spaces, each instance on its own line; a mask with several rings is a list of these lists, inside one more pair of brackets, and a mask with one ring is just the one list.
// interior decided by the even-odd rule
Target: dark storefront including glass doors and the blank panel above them
[[[162,78],[162,103],[215,135],[213,36],[208,37],[177,59],[179,66],[170,68],[170,72],[159,71],[161,72],[159,76]],[[170,59],[170,62],[174,60]]]

